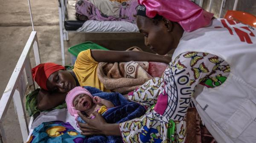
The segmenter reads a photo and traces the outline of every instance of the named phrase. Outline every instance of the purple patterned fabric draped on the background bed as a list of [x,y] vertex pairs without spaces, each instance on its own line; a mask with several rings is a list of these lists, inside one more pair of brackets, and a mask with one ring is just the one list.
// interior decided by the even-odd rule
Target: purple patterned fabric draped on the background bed
[[96,8],[92,3],[87,0],[79,0],[76,3],[76,13],[84,15],[88,20],[99,20],[99,21],[127,21],[136,23],[136,7],[138,6],[137,0],[125,1],[120,6],[119,18],[108,16],[103,14],[99,9]]

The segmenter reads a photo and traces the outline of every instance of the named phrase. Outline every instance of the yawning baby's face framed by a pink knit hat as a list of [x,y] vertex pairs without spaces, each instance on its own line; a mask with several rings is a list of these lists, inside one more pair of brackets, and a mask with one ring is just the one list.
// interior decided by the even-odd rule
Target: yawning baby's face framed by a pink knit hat
[[93,107],[93,104],[93,100],[87,94],[79,94],[73,100],[73,106],[79,111],[86,112]]

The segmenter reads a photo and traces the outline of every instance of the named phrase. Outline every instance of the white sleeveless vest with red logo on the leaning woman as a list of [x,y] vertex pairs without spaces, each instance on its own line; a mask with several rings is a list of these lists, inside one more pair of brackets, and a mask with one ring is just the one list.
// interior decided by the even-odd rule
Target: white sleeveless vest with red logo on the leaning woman
[[193,100],[209,132],[218,143],[256,143],[256,28],[215,19],[209,27],[184,32],[172,60],[187,51],[230,64],[221,86],[195,89]]

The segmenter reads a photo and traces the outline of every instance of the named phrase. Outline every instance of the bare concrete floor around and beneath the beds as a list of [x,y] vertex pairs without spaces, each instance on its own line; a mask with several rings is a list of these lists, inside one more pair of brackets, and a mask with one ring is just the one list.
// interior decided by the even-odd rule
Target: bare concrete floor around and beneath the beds
[[[221,0],[219,0],[221,1]],[[254,0],[247,0],[255,8]],[[0,97],[13,69],[20,57],[29,34],[32,31],[27,0],[0,0]],[[58,1],[31,1],[35,31],[38,32],[41,62],[61,64],[61,48],[58,26]],[[249,11],[255,14],[255,9]],[[67,48],[84,41],[93,41],[111,50],[125,50],[131,46],[144,46],[142,34],[69,34],[70,41],[65,41],[66,63],[71,63]],[[33,54],[31,61],[34,64]],[[3,122],[8,143],[22,143],[22,137],[14,110],[13,102]]]

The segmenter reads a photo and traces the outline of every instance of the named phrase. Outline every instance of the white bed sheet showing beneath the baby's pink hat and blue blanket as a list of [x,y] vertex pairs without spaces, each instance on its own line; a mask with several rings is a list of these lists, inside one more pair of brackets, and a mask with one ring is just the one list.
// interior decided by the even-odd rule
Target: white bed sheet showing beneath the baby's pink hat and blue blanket
[[[75,117],[71,116],[67,109],[55,109],[50,112],[41,112],[41,114],[34,120],[29,131],[29,137],[33,130],[43,122],[49,122],[54,120],[60,120],[63,122],[69,122],[78,132],[81,130],[76,126]],[[29,137],[27,141],[29,140]]]

